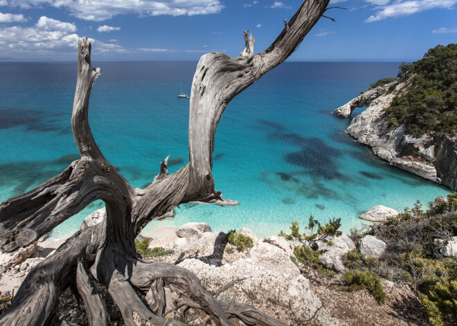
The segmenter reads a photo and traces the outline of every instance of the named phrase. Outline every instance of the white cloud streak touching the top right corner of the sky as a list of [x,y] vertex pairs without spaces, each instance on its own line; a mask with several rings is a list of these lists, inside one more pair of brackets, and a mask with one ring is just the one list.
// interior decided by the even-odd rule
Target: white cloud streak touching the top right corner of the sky
[[[382,2],[382,0],[371,1],[373,3]],[[397,0],[386,6],[377,7],[378,11],[375,15],[368,17],[365,22],[371,23],[389,17],[403,17],[435,8],[448,9],[454,6],[455,3],[457,3],[457,0]]]

